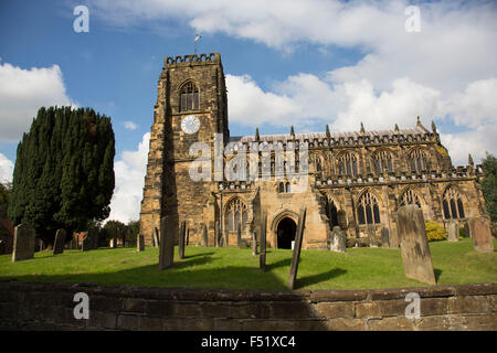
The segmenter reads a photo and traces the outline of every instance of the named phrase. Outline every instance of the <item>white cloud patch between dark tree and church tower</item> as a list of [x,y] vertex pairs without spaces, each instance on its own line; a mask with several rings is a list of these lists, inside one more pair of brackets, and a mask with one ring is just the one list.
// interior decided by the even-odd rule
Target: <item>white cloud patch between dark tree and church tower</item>
[[139,218],[144,193],[150,133],[144,135],[136,151],[124,151],[114,163],[116,188],[110,200],[109,220],[124,223]]

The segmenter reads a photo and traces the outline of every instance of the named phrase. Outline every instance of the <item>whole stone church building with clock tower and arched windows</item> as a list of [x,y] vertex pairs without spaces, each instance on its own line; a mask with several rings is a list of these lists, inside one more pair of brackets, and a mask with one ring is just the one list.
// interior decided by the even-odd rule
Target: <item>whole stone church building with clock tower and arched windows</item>
[[[378,236],[385,227],[395,239],[396,212],[404,204],[416,204],[425,221],[440,224],[454,218],[463,222],[484,212],[476,182],[480,168],[473,164],[470,157],[469,165],[454,168],[435,125],[432,122],[429,130],[419,117],[417,121],[413,117],[413,127],[395,125],[391,130],[369,130],[361,124],[357,131],[349,132],[326,126],[324,132],[296,133],[292,128],[287,135],[258,135],[257,130],[244,137],[230,136],[228,117],[220,54],[165,60],[140,212],[140,233],[147,245],[152,244],[152,232],[160,229],[160,218],[166,215],[172,220],[175,237],[186,221],[189,242],[195,244],[203,223],[209,245],[216,244],[215,235],[219,238],[228,232],[233,246],[239,227],[248,242],[253,232],[258,238],[261,214],[266,211],[267,246],[289,248],[298,211],[306,205],[303,248],[327,248],[329,234],[337,225],[348,238],[367,236],[369,226]],[[216,133],[223,141],[221,150],[229,142],[247,151],[254,142],[284,148],[306,143],[306,161],[285,159],[285,165],[289,161],[297,171],[299,162],[307,163],[304,188],[296,191],[303,179],[274,175],[274,151],[269,168],[254,162],[261,167],[258,176],[265,178],[215,178],[214,158],[204,156],[210,178],[194,181],[191,167],[200,154],[190,149],[194,142],[204,142],[214,156]],[[222,165],[233,156],[224,153]],[[263,175],[267,170],[271,173]]]

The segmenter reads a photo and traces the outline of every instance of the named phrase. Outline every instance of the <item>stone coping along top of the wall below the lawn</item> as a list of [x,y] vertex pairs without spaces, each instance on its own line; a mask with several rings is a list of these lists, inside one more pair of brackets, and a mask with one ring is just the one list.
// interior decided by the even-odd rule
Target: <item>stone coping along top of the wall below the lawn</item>
[[497,295],[497,282],[474,285],[444,285],[432,287],[358,289],[358,290],[239,290],[204,288],[165,288],[106,286],[87,282],[32,282],[0,279],[0,291],[68,291],[86,292],[88,296],[116,298],[139,298],[182,301],[363,301],[403,299],[409,292],[416,292],[421,298],[442,298],[456,296]]

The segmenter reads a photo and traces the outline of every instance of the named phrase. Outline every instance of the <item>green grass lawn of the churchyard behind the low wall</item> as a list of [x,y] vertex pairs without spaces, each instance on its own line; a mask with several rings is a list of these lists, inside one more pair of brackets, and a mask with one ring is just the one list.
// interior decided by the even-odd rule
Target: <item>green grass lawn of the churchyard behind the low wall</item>
[[[497,248],[497,242],[494,240]],[[497,253],[473,250],[470,239],[430,243],[438,285],[497,281]],[[177,256],[178,248],[175,256]],[[158,248],[101,248],[82,253],[36,253],[33,259],[11,263],[0,256],[0,279],[27,281],[98,282],[154,287],[214,289],[286,289],[292,250],[268,249],[266,272],[250,248],[191,247],[183,260],[159,270]],[[404,277],[399,249],[348,248],[347,254],[303,250],[296,289],[372,289],[425,286]]]

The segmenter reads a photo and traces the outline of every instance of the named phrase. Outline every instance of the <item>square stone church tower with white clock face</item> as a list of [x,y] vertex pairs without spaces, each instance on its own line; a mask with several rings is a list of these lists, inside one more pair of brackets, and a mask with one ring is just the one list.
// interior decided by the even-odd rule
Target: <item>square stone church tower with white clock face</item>
[[[194,142],[205,142],[214,156],[214,133],[229,140],[228,97],[220,54],[167,57],[154,107],[141,201],[140,234],[146,245],[152,244],[154,227],[160,229],[165,215],[176,220],[177,229],[186,221],[195,232],[204,222],[203,212],[214,183],[191,180],[190,165],[198,156],[189,156],[189,149]],[[211,165],[213,171],[213,162]],[[215,208],[212,202],[211,206]],[[208,226],[211,231],[212,225]]]

